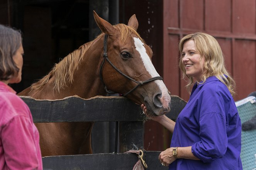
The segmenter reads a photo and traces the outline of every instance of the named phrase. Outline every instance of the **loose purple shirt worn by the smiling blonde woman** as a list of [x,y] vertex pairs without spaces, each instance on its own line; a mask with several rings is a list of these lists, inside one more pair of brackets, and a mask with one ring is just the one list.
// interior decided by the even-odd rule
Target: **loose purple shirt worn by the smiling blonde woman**
[[171,147],[188,146],[200,160],[177,159],[170,170],[242,170],[241,120],[231,93],[215,76],[194,85],[176,120]]

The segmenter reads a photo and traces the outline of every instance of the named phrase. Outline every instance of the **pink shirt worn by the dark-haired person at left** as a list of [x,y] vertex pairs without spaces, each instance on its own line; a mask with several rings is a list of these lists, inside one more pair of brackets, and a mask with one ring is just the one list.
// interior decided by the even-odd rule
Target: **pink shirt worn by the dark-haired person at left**
[[1,81],[0,169],[42,170],[39,133],[29,107]]

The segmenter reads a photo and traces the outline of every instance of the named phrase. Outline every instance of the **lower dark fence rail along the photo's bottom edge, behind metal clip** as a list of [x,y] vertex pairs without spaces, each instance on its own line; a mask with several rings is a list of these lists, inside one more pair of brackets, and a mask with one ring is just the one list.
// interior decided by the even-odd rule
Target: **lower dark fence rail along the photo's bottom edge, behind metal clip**
[[[158,151],[144,152],[147,170],[167,170],[158,160]],[[138,161],[135,153],[101,153],[43,157],[46,170],[132,170]]]

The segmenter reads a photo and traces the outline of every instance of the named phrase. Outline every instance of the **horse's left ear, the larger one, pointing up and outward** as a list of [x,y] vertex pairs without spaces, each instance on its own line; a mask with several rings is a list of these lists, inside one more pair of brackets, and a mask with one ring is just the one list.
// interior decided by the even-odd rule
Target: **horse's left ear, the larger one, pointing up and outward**
[[93,17],[98,27],[100,28],[100,30],[102,30],[103,33],[110,35],[111,33],[115,32],[115,28],[113,27],[113,25],[111,25],[106,20],[103,20],[102,18],[100,18],[95,11],[93,11]]

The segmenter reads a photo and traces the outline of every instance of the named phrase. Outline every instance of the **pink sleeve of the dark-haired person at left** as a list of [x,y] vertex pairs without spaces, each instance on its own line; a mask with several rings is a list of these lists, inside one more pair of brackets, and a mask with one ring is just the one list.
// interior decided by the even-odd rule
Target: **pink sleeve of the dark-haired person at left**
[[10,169],[37,169],[36,146],[29,118],[15,116],[2,128],[5,161]]

